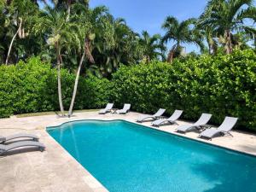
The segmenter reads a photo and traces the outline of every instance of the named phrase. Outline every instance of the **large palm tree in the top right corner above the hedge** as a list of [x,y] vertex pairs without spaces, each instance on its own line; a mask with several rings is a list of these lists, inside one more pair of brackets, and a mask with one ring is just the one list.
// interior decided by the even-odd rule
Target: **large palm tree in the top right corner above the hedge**
[[243,32],[255,38],[255,26],[248,26],[246,20],[256,20],[253,0],[212,0],[201,15],[201,26],[212,27],[212,31],[224,38],[224,49],[232,52],[233,32]]

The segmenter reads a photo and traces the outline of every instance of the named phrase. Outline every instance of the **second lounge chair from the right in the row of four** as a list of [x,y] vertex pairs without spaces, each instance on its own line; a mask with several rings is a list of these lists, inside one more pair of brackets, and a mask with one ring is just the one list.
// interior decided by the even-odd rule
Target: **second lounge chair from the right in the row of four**
[[211,117],[212,114],[202,113],[201,117],[194,124],[180,125],[177,127],[176,131],[186,133],[187,131],[201,130],[205,127],[205,125],[207,125]]

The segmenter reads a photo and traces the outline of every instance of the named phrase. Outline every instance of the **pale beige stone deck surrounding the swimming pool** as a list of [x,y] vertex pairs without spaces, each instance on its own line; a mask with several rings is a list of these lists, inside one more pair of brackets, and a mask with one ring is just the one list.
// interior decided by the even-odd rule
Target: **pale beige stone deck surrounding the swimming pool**
[[[0,191],[1,192],[103,192],[108,191],[101,183],[87,172],[67,151],[55,142],[45,131],[49,125],[78,119],[125,119],[135,122],[141,113],[105,114],[96,112],[74,113],[70,119],[56,115],[34,116],[26,118],[11,117],[0,119],[0,135],[26,132],[36,134],[46,150],[41,153],[33,149],[18,149],[0,156]],[[177,121],[179,125],[189,122]],[[150,126],[150,122],[143,123]],[[212,143],[231,148],[247,154],[256,155],[256,135],[241,131],[231,131],[234,137],[217,137],[212,141],[198,138],[198,133],[189,132],[185,135],[175,132],[177,125],[165,125],[159,129],[201,142]]]

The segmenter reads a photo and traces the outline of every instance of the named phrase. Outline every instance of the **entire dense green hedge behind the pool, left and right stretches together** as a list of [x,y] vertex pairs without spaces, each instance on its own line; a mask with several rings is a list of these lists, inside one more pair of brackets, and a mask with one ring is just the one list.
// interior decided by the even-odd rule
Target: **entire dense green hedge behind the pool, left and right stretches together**
[[[61,70],[62,95],[67,109],[75,75]],[[0,116],[58,110],[55,68],[38,58],[0,66]],[[171,64],[152,61],[122,66],[112,79],[80,77],[75,109],[116,107],[130,102],[132,110],[166,114],[183,109],[183,119],[212,113],[212,123],[225,116],[239,118],[239,128],[256,131],[256,54],[252,49],[231,55],[201,55]]]

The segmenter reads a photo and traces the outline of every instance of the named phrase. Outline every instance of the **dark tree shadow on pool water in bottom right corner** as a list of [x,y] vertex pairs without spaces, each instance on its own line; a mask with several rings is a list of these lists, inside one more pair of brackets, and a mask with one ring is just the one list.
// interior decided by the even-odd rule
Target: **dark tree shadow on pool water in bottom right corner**
[[[253,170],[245,166],[230,166],[228,160],[225,163],[218,163],[222,159],[216,159],[215,162],[204,162],[200,164],[191,164],[190,168],[197,176],[202,177],[208,183],[212,183],[211,189],[204,192],[254,192],[256,191],[256,168]],[[238,162],[236,162],[238,163]],[[242,165],[242,161],[239,162]],[[255,165],[255,164],[254,164]],[[250,169],[250,170],[249,170]]]

